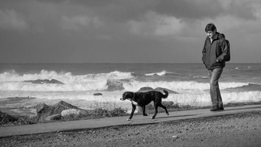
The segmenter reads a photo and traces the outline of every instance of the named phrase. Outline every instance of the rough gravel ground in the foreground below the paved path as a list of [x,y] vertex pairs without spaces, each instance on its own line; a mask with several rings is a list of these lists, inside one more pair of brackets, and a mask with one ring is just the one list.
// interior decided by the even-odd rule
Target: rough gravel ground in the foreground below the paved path
[[261,146],[261,111],[5,137],[0,146]]

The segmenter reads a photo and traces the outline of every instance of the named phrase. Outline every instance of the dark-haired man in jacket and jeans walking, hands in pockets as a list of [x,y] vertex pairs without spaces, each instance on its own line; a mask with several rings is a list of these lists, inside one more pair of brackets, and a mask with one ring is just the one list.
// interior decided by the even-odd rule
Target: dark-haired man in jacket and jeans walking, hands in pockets
[[217,32],[217,28],[213,23],[206,25],[205,32],[207,37],[202,50],[202,61],[208,69],[209,75],[212,102],[212,109],[210,111],[224,110],[218,80],[225,67],[224,59],[229,56],[227,43],[224,37]]

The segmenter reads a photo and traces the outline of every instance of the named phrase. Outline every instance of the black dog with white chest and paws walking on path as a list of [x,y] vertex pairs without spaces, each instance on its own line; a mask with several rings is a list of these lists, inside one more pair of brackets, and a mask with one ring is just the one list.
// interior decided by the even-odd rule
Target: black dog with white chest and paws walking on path
[[155,116],[157,115],[158,107],[162,107],[166,111],[167,115],[169,115],[167,108],[161,104],[161,99],[162,98],[165,99],[168,97],[168,91],[166,90],[163,91],[165,92],[165,95],[159,91],[135,92],[135,93],[129,91],[124,92],[120,100],[124,101],[125,99],[128,99],[131,101],[132,104],[132,111],[130,114],[130,118],[127,120],[129,121],[132,118],[133,113],[136,109],[136,105],[141,106],[143,116],[147,116],[147,114],[145,114],[145,106],[148,105],[151,101],[154,102],[154,107],[155,107],[155,114],[154,116],[152,116],[151,119],[154,119]]

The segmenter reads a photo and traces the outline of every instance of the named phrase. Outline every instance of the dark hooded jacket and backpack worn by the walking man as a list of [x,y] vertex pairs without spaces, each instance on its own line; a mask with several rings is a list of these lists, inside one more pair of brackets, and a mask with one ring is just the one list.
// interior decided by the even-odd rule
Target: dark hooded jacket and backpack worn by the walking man
[[225,38],[219,32],[216,32],[216,36],[211,43],[210,38],[206,37],[202,55],[202,61],[207,69],[225,67],[224,58],[229,56]]

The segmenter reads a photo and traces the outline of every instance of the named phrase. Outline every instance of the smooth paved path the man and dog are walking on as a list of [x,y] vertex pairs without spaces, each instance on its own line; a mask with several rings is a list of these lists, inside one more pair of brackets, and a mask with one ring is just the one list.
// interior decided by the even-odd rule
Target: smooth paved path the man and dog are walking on
[[100,127],[118,126],[118,125],[133,125],[133,124],[152,124],[163,121],[184,120],[190,118],[202,118],[208,116],[220,116],[249,111],[261,111],[261,105],[249,105],[242,107],[226,107],[224,111],[210,112],[209,109],[198,110],[186,110],[169,112],[169,116],[166,113],[158,113],[155,119],[150,119],[150,116],[135,115],[131,121],[127,121],[129,116],[100,118],[100,119],[88,119],[79,121],[66,121],[58,123],[46,123],[46,124],[31,124],[21,125],[13,127],[1,127],[0,138],[13,135],[27,135],[57,131],[71,131],[81,129],[93,129]]

